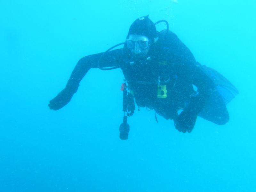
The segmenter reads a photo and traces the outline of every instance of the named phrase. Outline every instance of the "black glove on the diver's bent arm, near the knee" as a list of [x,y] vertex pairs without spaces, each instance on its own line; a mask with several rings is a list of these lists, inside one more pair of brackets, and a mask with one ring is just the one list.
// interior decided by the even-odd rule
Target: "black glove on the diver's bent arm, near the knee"
[[183,110],[177,118],[174,119],[175,128],[180,132],[191,132],[196,123],[196,113]]

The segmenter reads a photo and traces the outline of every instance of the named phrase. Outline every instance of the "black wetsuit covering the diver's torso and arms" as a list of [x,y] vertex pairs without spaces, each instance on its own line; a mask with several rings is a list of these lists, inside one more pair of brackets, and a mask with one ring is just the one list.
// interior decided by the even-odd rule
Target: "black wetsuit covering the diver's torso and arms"
[[[102,54],[85,56],[78,61],[66,88],[50,101],[50,108],[58,110],[71,100],[88,70],[98,68]],[[175,119],[180,108],[185,108],[188,116],[197,116],[211,96],[214,84],[186,45],[174,33],[162,31],[158,41],[150,45],[147,57],[147,61],[133,60],[124,46],[107,52],[100,60],[100,67],[121,67],[138,106],[155,109],[166,119]],[[166,98],[157,97],[159,80],[161,84],[166,81]]]

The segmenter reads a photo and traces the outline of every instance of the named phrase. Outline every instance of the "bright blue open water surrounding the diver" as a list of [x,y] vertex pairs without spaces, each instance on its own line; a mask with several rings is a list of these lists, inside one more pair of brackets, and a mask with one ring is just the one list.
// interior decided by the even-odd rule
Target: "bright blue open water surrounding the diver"
[[[1,192],[256,191],[256,1],[160,2],[0,1]],[[198,118],[183,134],[141,108],[120,140],[120,69],[90,70],[67,106],[48,108],[80,58],[147,14],[239,89],[226,125]]]

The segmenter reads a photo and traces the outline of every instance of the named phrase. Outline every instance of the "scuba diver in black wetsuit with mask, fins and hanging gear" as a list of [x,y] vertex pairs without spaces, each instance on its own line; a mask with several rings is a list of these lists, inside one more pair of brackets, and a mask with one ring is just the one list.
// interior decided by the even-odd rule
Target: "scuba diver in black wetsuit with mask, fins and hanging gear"
[[[156,30],[160,22],[166,24],[161,32]],[[114,49],[120,45],[123,48]],[[125,43],[80,59],[65,89],[50,101],[49,108],[58,110],[68,104],[91,68],[123,71],[124,118],[119,127],[122,140],[128,139],[127,116],[134,113],[134,99],[138,108],[154,109],[185,133],[192,131],[197,116],[219,125],[227,123],[226,105],[238,94],[225,77],[196,61],[188,47],[169,31],[167,21],[153,23],[148,15],[132,23]]]

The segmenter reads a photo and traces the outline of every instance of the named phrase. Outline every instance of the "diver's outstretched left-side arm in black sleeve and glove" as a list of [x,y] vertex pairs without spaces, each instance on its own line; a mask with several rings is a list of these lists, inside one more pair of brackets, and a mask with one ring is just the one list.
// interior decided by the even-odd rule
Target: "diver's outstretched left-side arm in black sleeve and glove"
[[[77,62],[76,67],[68,79],[65,89],[63,89],[54,99],[50,101],[48,105],[50,109],[58,110],[68,104],[74,93],[76,93],[79,83],[86,73],[91,68],[98,68],[98,61],[102,54],[103,53],[88,55]],[[100,60],[100,67],[114,67],[122,65],[122,54],[122,49],[107,52]]]

